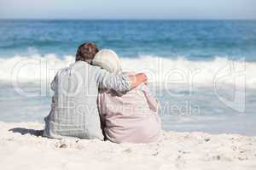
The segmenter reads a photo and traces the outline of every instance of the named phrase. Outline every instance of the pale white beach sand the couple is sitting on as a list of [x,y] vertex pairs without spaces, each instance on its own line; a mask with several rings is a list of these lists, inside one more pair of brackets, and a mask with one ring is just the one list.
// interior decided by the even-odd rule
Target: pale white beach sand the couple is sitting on
[[[256,169],[256,137],[168,132],[160,143],[113,144],[99,140],[46,139],[35,131],[43,125],[33,122],[0,122],[0,127],[3,170]],[[14,132],[9,131],[12,128]]]

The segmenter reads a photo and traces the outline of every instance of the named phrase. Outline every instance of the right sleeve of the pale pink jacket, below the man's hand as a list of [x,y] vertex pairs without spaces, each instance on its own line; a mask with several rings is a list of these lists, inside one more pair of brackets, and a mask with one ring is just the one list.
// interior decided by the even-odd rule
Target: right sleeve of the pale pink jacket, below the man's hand
[[157,99],[154,98],[154,96],[150,93],[150,89],[147,85],[143,84],[140,89],[143,91],[143,94],[145,95],[149,108],[152,111],[158,111],[160,105]]

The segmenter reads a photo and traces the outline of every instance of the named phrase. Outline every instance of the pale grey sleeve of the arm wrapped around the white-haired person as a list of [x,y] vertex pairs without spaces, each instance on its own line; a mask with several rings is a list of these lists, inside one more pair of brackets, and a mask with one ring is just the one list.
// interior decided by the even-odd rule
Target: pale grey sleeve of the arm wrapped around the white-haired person
[[96,67],[96,82],[98,88],[113,89],[119,92],[131,90],[131,82],[128,76],[124,74],[110,74],[99,67]]

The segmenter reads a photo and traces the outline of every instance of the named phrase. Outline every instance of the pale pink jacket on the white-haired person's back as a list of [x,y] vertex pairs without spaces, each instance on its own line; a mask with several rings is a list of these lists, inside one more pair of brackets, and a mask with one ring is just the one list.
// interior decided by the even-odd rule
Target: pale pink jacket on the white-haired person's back
[[161,136],[158,101],[146,85],[120,95],[108,90],[98,95],[104,133],[115,143],[149,143]]

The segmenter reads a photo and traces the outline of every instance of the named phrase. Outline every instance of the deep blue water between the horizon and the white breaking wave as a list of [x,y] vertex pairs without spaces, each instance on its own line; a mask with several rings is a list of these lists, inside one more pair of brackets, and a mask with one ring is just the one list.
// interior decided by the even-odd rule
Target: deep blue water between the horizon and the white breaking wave
[[87,41],[125,57],[255,60],[256,21],[0,20],[1,57],[32,50],[61,57]]

